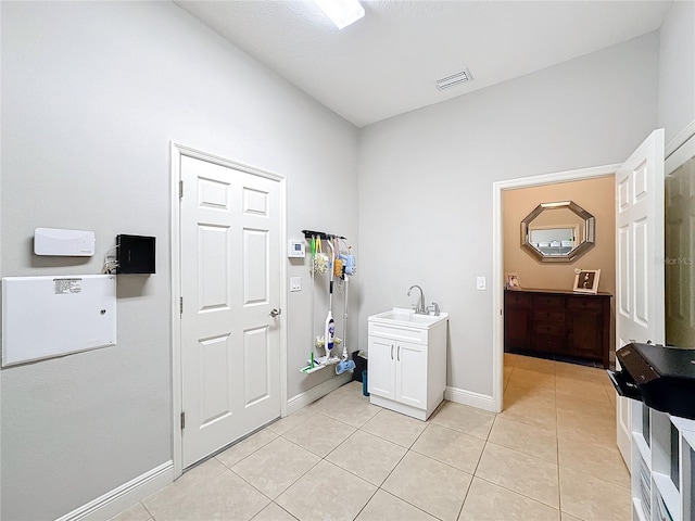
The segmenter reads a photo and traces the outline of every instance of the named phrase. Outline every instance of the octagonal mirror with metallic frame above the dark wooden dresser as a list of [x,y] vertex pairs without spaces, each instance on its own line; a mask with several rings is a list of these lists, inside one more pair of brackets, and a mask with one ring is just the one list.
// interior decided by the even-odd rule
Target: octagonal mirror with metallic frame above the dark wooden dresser
[[572,201],[541,203],[521,221],[521,246],[542,263],[569,263],[594,246],[595,226]]

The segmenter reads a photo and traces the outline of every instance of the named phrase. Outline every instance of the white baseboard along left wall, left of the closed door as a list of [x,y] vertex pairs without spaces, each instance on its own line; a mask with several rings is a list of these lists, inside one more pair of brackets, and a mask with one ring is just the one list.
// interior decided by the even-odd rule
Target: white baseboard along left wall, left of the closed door
[[108,492],[103,496],[76,508],[56,521],[103,521],[104,519],[111,519],[173,481],[174,462],[167,461]]

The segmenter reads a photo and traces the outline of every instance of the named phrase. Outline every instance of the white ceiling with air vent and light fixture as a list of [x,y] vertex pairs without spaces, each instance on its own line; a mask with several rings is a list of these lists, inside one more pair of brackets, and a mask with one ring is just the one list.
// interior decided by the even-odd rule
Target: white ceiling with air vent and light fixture
[[362,0],[342,30],[311,0],[176,3],[362,127],[657,30],[672,2]]

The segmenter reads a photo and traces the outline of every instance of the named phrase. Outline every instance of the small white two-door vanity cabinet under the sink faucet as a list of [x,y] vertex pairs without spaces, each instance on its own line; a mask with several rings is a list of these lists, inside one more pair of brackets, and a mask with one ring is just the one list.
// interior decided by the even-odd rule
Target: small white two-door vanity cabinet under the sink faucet
[[448,319],[410,315],[388,312],[368,319],[369,399],[426,420],[444,399]]

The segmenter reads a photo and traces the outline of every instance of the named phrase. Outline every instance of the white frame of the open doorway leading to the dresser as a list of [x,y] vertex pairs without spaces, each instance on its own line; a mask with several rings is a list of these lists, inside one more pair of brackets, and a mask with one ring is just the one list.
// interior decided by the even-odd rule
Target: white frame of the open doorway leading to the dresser
[[[492,313],[495,317],[492,323],[492,406],[494,412],[502,411],[504,394],[504,221],[502,216],[502,191],[612,176],[619,167],[620,163],[507,179],[495,181],[492,185]],[[611,223],[611,226],[614,224]]]

